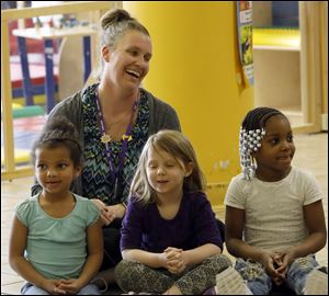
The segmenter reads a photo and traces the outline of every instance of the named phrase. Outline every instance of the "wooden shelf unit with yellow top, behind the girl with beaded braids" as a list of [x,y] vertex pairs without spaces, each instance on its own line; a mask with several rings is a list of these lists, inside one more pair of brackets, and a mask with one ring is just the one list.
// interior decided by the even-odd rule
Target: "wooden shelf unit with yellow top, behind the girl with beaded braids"
[[254,29],[252,37],[256,105],[279,109],[302,125],[299,30]]

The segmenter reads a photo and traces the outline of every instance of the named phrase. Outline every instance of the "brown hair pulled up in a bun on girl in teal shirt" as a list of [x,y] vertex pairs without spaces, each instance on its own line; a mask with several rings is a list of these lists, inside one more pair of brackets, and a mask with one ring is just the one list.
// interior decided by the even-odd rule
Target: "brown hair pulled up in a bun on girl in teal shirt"
[[31,151],[32,163],[35,164],[35,151],[39,148],[65,147],[70,153],[75,167],[82,164],[82,150],[79,144],[79,136],[75,125],[66,117],[52,117],[39,137],[35,140]]

